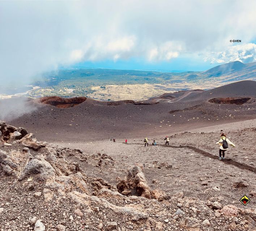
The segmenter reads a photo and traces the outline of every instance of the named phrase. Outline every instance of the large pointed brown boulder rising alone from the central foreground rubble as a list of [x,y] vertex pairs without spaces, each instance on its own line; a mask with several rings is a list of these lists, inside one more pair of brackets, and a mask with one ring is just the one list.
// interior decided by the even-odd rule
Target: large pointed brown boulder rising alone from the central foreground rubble
[[118,192],[123,195],[142,196],[151,199],[151,190],[142,169],[134,166],[129,169],[126,179],[117,184]]

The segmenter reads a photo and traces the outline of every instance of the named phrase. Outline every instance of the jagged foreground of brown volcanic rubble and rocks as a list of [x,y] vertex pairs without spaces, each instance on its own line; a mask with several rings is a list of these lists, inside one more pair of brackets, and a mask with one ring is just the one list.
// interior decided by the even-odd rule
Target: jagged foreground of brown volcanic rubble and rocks
[[255,208],[152,190],[141,163],[114,185],[88,176],[95,163],[114,166],[0,121],[0,231],[256,230]]

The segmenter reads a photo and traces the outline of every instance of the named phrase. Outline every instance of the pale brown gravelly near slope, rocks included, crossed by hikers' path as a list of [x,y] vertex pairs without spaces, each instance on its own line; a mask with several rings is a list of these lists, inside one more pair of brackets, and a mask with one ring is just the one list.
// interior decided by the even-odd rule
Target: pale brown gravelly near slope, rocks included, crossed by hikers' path
[[[34,136],[15,141],[14,133],[7,131],[16,128],[2,123],[1,138],[12,146],[0,145],[0,230],[31,230],[41,225],[34,225],[41,219],[47,231],[254,231],[256,169],[253,164],[247,170],[248,161],[242,157],[249,151],[249,161],[256,159],[255,121],[244,122],[243,129],[228,126],[228,135],[240,152],[232,156],[235,150],[228,151],[226,163],[230,164],[214,156],[219,131],[176,134],[170,147],[144,147],[142,140],[129,137],[128,144],[120,140],[81,143],[76,148],[83,148],[82,153],[35,143]],[[161,144],[163,138],[157,142]],[[24,149],[28,145],[40,148]],[[13,169],[27,158],[29,163],[17,181]],[[242,163],[235,166],[235,160]],[[143,171],[131,169],[137,162]],[[30,176],[33,179],[27,181]],[[129,187],[137,185],[137,196],[120,190],[121,179],[127,179]],[[252,200],[246,207],[239,202],[244,194]]]

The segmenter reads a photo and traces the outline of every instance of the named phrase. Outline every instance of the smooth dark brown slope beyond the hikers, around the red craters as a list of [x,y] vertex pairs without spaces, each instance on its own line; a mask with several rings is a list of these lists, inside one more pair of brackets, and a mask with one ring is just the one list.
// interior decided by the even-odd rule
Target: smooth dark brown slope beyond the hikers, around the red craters
[[[107,102],[87,99],[67,109],[30,101],[28,104],[37,109],[13,119],[11,123],[28,128],[38,134],[39,139],[69,142],[106,139],[111,136],[156,136],[187,128],[254,119],[256,115],[256,103],[253,102],[243,105],[208,102],[214,97],[255,96],[254,81],[241,81],[207,92],[172,93],[170,96],[175,98],[150,100],[159,101],[154,105],[107,105]],[[14,112],[17,113],[19,111]],[[11,118],[12,115],[8,116]]]

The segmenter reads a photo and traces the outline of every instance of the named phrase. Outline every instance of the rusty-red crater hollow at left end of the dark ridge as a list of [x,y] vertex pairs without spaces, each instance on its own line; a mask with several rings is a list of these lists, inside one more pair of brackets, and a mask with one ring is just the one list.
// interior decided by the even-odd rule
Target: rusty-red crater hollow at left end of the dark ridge
[[86,99],[86,97],[62,98],[59,96],[46,96],[40,98],[40,103],[50,104],[57,108],[71,108],[83,103]]

